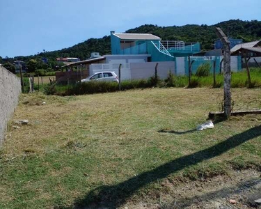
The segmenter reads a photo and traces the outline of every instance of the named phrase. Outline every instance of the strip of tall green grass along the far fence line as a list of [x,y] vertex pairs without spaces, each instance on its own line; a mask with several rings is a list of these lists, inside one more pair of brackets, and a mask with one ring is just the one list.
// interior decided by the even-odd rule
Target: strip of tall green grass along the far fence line
[[[200,67],[197,71],[198,74],[191,77],[191,88],[196,87],[213,87],[213,75],[207,75],[211,65],[209,63]],[[207,70],[206,70],[207,69]],[[197,76],[200,75],[200,76]],[[204,75],[204,76],[203,76]],[[169,72],[166,79],[155,77],[149,79],[139,80],[127,80],[122,81],[121,89],[123,91],[134,88],[152,88],[152,87],[186,87],[189,84],[189,78],[187,76],[176,76]],[[251,87],[261,87],[261,69],[251,68]],[[223,86],[223,75],[216,75],[216,86],[214,88],[221,88]],[[231,87],[243,88],[247,87],[247,75],[245,70],[242,72],[232,72]],[[93,94],[93,93],[106,93],[118,91],[118,84],[111,82],[86,82],[81,84],[70,84],[68,86],[61,85],[48,85],[45,87],[44,92],[46,94],[55,95],[81,95],[81,94]]]

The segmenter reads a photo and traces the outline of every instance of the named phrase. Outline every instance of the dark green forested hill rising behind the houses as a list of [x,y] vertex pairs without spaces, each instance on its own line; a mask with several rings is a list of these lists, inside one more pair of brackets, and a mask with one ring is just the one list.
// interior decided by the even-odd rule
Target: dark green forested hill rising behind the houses
[[[206,24],[196,25],[187,24],[184,26],[157,26],[145,24],[135,29],[129,29],[126,33],[152,33],[159,36],[162,40],[183,40],[184,42],[200,42],[203,50],[212,49],[214,40],[217,39],[215,27],[219,26],[232,38],[242,38],[244,42],[261,39],[261,21],[242,21],[229,20],[219,22],[211,26]],[[109,33],[109,31],[108,31]],[[49,60],[55,60],[57,57],[79,57],[81,60],[90,57],[91,52],[100,52],[100,54],[111,53],[110,36],[103,38],[90,38],[72,47],[53,51],[41,52],[34,56],[17,56],[14,59],[29,61],[29,59],[38,59],[47,57]],[[3,61],[8,61],[3,59]]]

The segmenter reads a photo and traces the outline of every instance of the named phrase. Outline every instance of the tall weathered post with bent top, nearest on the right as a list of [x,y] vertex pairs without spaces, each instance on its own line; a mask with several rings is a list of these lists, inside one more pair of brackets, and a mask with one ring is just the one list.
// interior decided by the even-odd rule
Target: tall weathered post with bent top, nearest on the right
[[231,84],[231,70],[230,70],[230,42],[228,37],[226,37],[225,33],[217,27],[216,35],[219,36],[221,42],[224,45],[224,114],[226,118],[230,118],[231,115],[231,92],[230,92],[230,84]]

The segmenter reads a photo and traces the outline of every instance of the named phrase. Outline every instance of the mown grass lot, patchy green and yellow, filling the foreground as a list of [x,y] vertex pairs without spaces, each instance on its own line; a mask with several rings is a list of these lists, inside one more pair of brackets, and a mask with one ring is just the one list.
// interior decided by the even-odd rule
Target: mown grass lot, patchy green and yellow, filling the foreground
[[[222,99],[221,88],[24,94],[0,151],[0,208],[159,202],[166,178],[261,170],[260,115],[195,131],[209,111],[221,110]],[[261,107],[260,88],[233,88],[232,99],[234,110]],[[14,128],[19,119],[29,124]]]

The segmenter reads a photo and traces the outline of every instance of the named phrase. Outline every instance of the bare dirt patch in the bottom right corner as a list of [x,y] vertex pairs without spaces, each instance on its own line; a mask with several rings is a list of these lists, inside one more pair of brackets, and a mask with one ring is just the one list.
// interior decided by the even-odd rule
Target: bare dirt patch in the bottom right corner
[[[126,203],[122,208],[204,208],[234,209],[261,208],[255,200],[261,198],[259,171],[230,171],[228,176],[216,176],[207,180],[173,181],[166,179],[165,187],[155,199],[139,203]],[[166,192],[168,191],[168,192]]]

